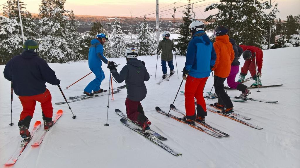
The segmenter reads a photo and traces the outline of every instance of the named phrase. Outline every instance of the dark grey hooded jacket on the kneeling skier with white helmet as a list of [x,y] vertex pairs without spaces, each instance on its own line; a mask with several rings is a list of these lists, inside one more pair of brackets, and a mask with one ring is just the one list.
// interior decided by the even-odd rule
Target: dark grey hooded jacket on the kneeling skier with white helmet
[[147,88],[144,81],[150,79],[145,65],[137,58],[131,58],[127,61],[120,74],[116,70],[111,73],[118,83],[125,80],[127,88],[127,98],[132,101],[142,101],[147,94]]

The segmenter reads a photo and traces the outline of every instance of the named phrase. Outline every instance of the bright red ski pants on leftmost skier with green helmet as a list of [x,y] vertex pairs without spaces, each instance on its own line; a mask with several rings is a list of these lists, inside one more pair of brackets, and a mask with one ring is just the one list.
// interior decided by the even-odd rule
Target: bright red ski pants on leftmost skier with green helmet
[[36,101],[41,103],[42,112],[44,116],[52,118],[53,107],[51,103],[51,93],[48,89],[46,89],[44,93],[38,95],[19,96],[19,99],[23,106],[23,110],[20,115],[20,120],[23,120],[27,116],[33,116],[33,113],[35,112]]

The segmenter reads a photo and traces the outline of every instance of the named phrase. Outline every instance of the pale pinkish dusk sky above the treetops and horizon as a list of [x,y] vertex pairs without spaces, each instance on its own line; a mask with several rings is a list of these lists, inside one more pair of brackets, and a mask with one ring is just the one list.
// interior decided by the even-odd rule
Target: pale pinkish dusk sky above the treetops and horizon
[[[39,4],[41,0],[22,0],[27,4],[27,10],[31,13],[38,13]],[[201,0],[192,0],[198,2]],[[0,0],[0,5],[7,2],[7,0]],[[182,5],[187,4],[187,0],[159,0],[160,15],[163,18],[172,18],[174,13],[173,4],[175,3],[176,12],[175,17],[182,16]],[[202,0],[201,2],[193,5],[193,12],[196,19],[204,19],[217,10],[204,12],[207,5],[216,3],[217,0]],[[263,2],[263,1],[261,1]],[[271,0],[273,3],[274,0]],[[277,13],[277,19],[285,20],[286,16],[292,14],[294,16],[300,14],[300,0],[276,0],[274,4],[278,3],[280,13]],[[146,14],[155,13],[155,0],[66,0],[65,9],[74,10],[76,15],[95,15],[95,16],[131,16],[134,17],[144,16]],[[1,6],[2,7],[2,6]],[[2,12],[3,10],[1,10]],[[169,10],[171,9],[171,10]],[[168,10],[168,11],[163,11]],[[146,16],[146,18],[155,17],[155,14]]]

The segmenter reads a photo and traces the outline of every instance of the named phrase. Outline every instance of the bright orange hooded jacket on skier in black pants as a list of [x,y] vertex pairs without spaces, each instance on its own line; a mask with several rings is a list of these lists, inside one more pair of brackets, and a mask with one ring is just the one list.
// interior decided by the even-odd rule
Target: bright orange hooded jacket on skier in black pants
[[216,42],[214,42],[214,50],[216,51],[217,59],[214,68],[211,70],[214,71],[214,75],[226,78],[229,76],[231,63],[234,59],[234,51],[232,44],[229,42],[229,36],[217,36]]

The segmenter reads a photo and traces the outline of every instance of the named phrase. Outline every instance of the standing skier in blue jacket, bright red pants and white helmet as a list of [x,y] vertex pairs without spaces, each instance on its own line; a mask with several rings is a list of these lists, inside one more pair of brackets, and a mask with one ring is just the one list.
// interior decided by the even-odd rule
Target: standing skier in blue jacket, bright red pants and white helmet
[[[204,32],[204,28],[204,23],[198,20],[189,26],[193,39],[187,47],[182,75],[183,79],[187,80],[184,88],[186,116],[182,120],[192,124],[195,120],[205,122],[207,113],[203,89],[216,60],[213,44]],[[197,99],[197,116],[194,97]]]

